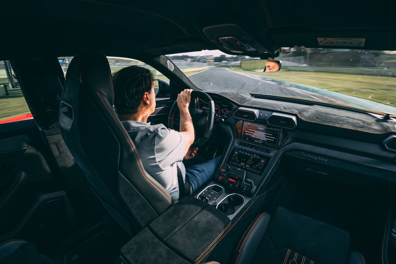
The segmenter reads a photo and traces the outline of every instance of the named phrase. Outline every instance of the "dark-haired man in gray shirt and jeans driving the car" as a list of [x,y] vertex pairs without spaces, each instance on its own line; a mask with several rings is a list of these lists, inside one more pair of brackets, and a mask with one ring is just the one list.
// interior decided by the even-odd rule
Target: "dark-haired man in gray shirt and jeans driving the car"
[[[163,124],[150,125],[148,116],[155,110],[155,79],[150,70],[129,66],[112,74],[114,106],[118,118],[135,143],[145,170],[171,195],[179,200],[179,175],[187,187],[186,194],[198,190],[209,181],[220,157],[185,168],[184,160],[194,158],[198,148],[190,148],[194,142],[194,126],[188,106],[192,89],[184,89],[177,95],[180,110],[180,132]],[[184,186],[181,186],[183,188]],[[188,190],[189,189],[189,190]]]

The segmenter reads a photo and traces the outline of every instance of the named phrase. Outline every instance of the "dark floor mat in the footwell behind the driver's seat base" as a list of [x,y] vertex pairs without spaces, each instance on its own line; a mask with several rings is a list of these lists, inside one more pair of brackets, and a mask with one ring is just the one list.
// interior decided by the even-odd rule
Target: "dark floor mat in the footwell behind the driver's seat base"
[[119,251],[128,241],[121,233],[100,232],[91,237],[65,256],[66,264],[116,263]]

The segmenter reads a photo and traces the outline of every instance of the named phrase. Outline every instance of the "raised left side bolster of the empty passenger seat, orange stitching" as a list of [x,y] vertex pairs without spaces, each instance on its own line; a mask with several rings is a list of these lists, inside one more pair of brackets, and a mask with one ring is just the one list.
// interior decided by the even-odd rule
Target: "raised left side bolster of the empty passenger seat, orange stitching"
[[270,219],[270,214],[262,213],[251,222],[236,248],[235,263],[251,263],[253,261],[261,240],[267,232]]

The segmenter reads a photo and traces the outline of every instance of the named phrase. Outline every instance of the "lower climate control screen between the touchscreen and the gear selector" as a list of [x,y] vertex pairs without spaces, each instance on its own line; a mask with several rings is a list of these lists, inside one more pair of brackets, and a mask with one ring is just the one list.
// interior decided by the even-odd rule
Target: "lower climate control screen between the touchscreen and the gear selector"
[[247,172],[261,175],[267,167],[270,158],[264,155],[257,155],[254,152],[233,148],[228,157],[227,164],[244,169]]

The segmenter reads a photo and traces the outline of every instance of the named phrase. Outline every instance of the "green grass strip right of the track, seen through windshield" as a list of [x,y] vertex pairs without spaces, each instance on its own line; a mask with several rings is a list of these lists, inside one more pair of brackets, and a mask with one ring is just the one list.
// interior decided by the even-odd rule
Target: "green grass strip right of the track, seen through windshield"
[[[232,70],[232,69],[231,69]],[[236,72],[246,72],[234,68]],[[287,82],[309,85],[329,91],[343,93],[377,103],[396,106],[396,78],[362,74],[330,72],[306,72],[280,70],[279,72],[246,72]]]

